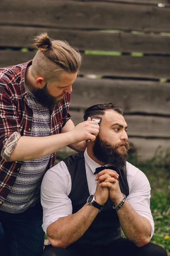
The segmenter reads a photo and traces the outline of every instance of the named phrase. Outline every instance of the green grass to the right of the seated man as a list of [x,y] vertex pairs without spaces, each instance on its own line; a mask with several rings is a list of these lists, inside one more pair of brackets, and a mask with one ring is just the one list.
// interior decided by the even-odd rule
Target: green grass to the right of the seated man
[[155,223],[151,242],[164,247],[170,256],[170,154],[165,157],[157,154],[144,163],[137,157],[128,161],[142,170],[150,181],[150,209]]

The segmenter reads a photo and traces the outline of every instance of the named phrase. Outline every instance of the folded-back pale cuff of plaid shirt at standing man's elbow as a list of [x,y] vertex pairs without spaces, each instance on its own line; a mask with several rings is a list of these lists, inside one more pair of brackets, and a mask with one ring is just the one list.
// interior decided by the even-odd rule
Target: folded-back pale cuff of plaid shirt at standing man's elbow
[[14,148],[17,145],[17,141],[20,139],[21,134],[17,131],[15,131],[6,141],[5,145],[3,146],[3,149],[1,151],[1,157],[8,162],[10,154],[14,150]]

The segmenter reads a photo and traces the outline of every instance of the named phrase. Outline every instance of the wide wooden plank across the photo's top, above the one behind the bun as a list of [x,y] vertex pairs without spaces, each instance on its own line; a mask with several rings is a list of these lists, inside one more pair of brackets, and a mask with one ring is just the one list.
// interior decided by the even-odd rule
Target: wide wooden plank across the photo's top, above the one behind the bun
[[0,24],[168,32],[170,8],[95,1],[6,0],[1,4]]

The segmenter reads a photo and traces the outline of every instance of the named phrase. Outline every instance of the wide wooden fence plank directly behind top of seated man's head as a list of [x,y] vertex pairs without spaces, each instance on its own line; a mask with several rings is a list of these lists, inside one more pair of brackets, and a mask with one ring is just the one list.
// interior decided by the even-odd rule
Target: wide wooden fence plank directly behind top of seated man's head
[[86,109],[113,102],[125,113],[170,115],[170,84],[153,81],[77,78],[71,107]]

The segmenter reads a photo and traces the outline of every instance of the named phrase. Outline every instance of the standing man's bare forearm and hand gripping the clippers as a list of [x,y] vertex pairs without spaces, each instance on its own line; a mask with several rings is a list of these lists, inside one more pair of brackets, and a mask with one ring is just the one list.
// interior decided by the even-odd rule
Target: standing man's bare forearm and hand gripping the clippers
[[74,129],[64,134],[55,134],[47,137],[22,136],[11,152],[8,161],[34,160],[52,154],[69,144],[83,140],[95,140],[99,132],[99,125],[88,120],[79,123]]

